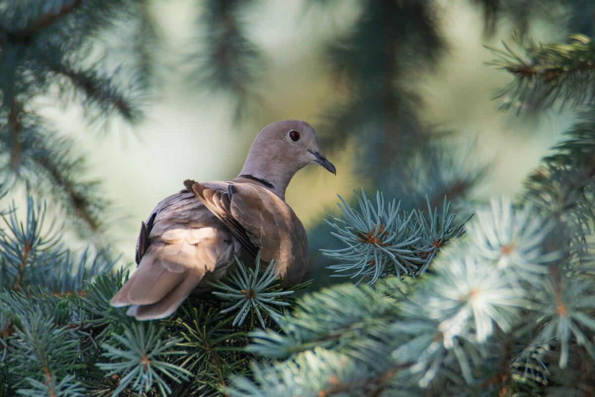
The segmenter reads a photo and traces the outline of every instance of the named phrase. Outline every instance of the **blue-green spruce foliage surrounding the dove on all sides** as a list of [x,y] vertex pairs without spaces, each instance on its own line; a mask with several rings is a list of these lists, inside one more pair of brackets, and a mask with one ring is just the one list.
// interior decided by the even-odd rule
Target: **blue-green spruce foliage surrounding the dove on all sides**
[[[592,5],[471,2],[484,8],[487,33],[503,15],[525,32],[539,10],[562,4],[583,34],[548,45],[518,35],[518,49],[493,50],[514,79],[499,94],[504,109],[579,108],[522,195],[455,223],[445,196],[464,202],[486,167],[431,139],[408,90],[446,47],[436,4],[356,2],[356,23],[328,45],[346,92],[331,106],[327,139],[371,142],[354,161],[384,194],[375,204],[364,190],[356,205],[341,198],[342,214],[325,226],[343,244],[326,245],[330,268],[352,280],[295,298],[274,263],[238,263],[214,293],[138,322],[108,303],[127,277],[115,270],[121,261],[108,247],[68,249],[48,205],[29,196],[23,220],[15,204],[0,211],[0,396],[594,394],[595,25],[577,12]],[[205,2],[206,36],[189,58],[202,87],[237,99],[236,120],[253,105],[264,65],[240,15],[252,4]],[[137,27],[129,84],[118,77],[126,68],[93,61],[92,40],[118,21]],[[0,1],[0,192],[19,183],[30,195],[51,192],[49,205],[80,235],[101,237],[109,203],[35,99],[57,93],[89,121],[135,123],[155,40],[147,1]]]

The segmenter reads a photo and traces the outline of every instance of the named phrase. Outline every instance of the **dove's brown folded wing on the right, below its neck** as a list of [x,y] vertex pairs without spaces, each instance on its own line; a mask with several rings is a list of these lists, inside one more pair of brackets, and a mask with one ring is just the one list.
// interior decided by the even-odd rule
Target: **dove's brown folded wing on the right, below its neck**
[[277,271],[283,285],[300,282],[308,267],[308,238],[286,202],[266,187],[252,182],[232,181],[227,192],[217,192],[208,183],[187,181],[186,186],[206,207],[214,208],[212,211],[226,226],[233,225],[230,230],[243,246],[247,245],[247,238],[260,249],[261,260],[278,262]]

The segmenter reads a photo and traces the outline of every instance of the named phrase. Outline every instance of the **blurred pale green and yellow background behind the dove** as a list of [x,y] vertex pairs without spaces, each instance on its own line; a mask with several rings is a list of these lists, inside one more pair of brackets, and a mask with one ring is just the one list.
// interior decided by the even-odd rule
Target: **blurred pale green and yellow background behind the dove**
[[[318,249],[336,244],[322,219],[336,212],[337,194],[352,200],[352,189],[369,196],[380,189],[404,208],[424,208],[426,195],[440,205],[446,195],[461,217],[490,196],[515,195],[572,113],[500,112],[506,98],[492,98],[513,77],[486,63],[494,58],[487,47],[513,46],[513,32],[564,42],[569,33],[592,33],[595,18],[591,2],[558,0],[0,4],[4,201],[36,192],[74,245],[109,244],[123,264],[133,261],[140,221],[161,199],[188,178],[233,179],[253,138],[275,120],[312,124],[337,167],[336,177],[307,167],[287,191],[308,229],[314,267],[325,264]],[[44,15],[51,23],[32,30]],[[33,44],[18,41],[31,32]],[[54,74],[36,71],[35,62],[52,58]],[[32,70],[28,80],[15,62]],[[36,73],[39,81],[30,78]],[[11,97],[10,87],[24,94]],[[18,120],[35,114],[50,126],[40,136],[69,142],[53,155],[80,160],[73,169],[99,185],[80,185],[77,195],[96,195],[101,205],[87,213],[86,204],[84,211],[76,199],[69,204],[68,183],[44,182],[39,161],[14,166],[21,149],[12,139],[13,102]],[[37,124],[21,124],[20,145],[35,154],[26,133],[35,135]]]

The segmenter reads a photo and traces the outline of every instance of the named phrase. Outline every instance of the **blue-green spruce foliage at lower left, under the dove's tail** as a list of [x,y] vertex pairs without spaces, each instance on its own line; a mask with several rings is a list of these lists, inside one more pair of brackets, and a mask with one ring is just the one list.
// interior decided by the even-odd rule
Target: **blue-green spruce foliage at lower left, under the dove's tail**
[[[10,208],[0,228],[3,396],[220,395],[231,376],[249,373],[247,333],[276,329],[274,305],[293,301],[274,263],[261,275],[259,264],[238,262],[215,283],[223,299],[193,296],[172,318],[139,323],[109,305],[126,274],[112,271],[107,251],[62,248],[43,226],[45,206],[28,204],[26,221]],[[230,307],[241,307],[235,319]]]

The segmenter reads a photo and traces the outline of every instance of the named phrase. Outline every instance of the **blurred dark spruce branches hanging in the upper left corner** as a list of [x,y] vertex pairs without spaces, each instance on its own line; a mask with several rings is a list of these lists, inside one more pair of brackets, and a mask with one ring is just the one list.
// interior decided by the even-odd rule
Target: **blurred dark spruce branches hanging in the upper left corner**
[[[36,99],[82,107],[87,120],[119,114],[135,123],[137,86],[126,69],[93,62],[92,43],[118,19],[135,15],[143,1],[22,1],[0,4],[0,175],[9,187],[51,195],[80,236],[101,237],[108,202],[85,181],[74,140],[60,137],[36,112]],[[73,34],[76,32],[76,34]],[[121,79],[123,78],[123,79]],[[121,80],[120,80],[121,79]],[[125,85],[123,82],[128,81]]]

